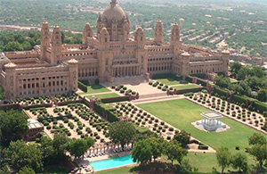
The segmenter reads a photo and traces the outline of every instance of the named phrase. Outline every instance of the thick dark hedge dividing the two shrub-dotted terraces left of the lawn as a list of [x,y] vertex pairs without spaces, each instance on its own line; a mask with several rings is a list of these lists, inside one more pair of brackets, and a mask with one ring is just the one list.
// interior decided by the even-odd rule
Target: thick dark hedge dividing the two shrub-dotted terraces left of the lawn
[[94,103],[93,111],[100,114],[102,117],[107,117],[110,122],[117,121],[117,114],[114,113],[116,109],[112,106],[107,106],[103,103]]

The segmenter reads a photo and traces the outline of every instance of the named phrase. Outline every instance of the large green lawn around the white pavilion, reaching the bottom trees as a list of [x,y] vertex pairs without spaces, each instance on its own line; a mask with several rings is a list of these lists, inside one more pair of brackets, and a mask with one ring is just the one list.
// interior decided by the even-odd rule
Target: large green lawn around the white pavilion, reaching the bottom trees
[[[150,104],[137,104],[137,106],[152,113],[161,120],[165,120],[175,128],[184,129],[187,132],[190,132],[192,137],[196,137],[206,145],[210,145],[214,149],[226,146],[230,149],[231,153],[245,153],[245,148],[248,147],[247,137],[250,137],[253,133],[257,132],[255,129],[248,128],[247,126],[229,118],[221,119],[225,124],[231,127],[227,131],[220,133],[206,133],[201,131],[191,125],[191,122],[201,120],[200,113],[209,110],[186,99]],[[235,146],[237,145],[240,147],[239,151],[235,150]],[[254,162],[248,154],[247,157],[249,163]],[[217,166],[214,153],[197,153],[197,155],[189,153],[188,158],[194,166],[198,167],[198,171],[200,172],[210,172],[212,167]]]

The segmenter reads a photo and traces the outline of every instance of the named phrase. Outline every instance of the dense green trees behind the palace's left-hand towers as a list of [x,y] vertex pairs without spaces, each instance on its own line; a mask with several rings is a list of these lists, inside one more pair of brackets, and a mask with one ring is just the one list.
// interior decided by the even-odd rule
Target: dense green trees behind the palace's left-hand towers
[[[0,52],[31,50],[40,45],[40,31],[0,31]],[[61,32],[62,43],[81,44],[82,35],[70,32]]]

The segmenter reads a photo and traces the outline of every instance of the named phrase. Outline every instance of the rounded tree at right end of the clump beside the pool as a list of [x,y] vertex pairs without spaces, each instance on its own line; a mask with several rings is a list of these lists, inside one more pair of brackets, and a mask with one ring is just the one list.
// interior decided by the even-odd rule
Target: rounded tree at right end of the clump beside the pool
[[172,162],[172,164],[174,164],[174,160],[181,164],[183,157],[186,156],[187,153],[188,152],[174,140],[166,144],[166,156],[168,157],[168,160]]

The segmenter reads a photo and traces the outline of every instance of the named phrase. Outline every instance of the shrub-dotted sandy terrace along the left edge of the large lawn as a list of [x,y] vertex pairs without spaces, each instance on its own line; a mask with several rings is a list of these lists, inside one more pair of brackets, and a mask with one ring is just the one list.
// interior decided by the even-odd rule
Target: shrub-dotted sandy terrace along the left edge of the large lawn
[[[146,112],[134,104],[113,103],[110,105],[113,105],[116,108],[120,120],[130,120],[138,127],[149,128],[150,131],[158,134],[158,136],[164,137],[166,140],[171,140],[176,133],[180,132],[178,128],[174,128],[164,120],[158,119],[158,117],[151,115],[150,112]],[[189,147],[194,148],[194,151],[198,151],[198,149],[201,149],[202,147],[203,150],[208,149],[206,145],[199,143],[198,140],[192,140]],[[213,151],[213,149],[209,149],[210,151]]]

